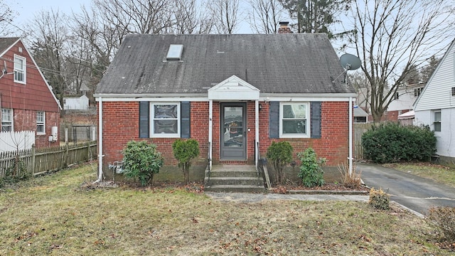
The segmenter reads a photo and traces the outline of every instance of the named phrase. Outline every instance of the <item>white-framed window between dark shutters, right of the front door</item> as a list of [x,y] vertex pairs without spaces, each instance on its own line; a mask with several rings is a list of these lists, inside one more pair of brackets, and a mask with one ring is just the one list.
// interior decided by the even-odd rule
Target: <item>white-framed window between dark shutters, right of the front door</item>
[[282,102],[279,105],[280,137],[310,137],[309,111],[308,102]]

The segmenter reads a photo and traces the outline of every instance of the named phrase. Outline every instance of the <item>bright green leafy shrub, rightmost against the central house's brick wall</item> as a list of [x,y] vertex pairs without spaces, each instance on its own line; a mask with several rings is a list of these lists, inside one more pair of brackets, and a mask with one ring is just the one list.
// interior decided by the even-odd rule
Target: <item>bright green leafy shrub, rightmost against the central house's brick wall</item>
[[301,161],[300,172],[297,176],[301,178],[304,186],[309,188],[322,186],[324,183],[322,166],[326,164],[326,159],[317,159],[316,152],[312,148],[297,153],[297,156]]

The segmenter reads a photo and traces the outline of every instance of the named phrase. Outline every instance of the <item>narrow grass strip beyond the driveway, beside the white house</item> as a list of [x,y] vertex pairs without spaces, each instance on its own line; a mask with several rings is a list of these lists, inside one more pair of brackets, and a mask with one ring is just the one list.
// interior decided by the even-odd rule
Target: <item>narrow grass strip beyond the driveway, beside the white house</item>
[[398,171],[408,172],[424,178],[429,178],[437,183],[445,184],[455,188],[455,169],[440,164],[428,162],[404,163],[404,164],[384,164],[384,166]]

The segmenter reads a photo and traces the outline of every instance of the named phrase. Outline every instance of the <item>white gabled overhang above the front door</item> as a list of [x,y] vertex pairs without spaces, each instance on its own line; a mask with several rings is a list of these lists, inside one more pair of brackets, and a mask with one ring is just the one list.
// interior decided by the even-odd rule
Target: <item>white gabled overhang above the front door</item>
[[208,89],[208,100],[259,100],[259,89],[232,75]]

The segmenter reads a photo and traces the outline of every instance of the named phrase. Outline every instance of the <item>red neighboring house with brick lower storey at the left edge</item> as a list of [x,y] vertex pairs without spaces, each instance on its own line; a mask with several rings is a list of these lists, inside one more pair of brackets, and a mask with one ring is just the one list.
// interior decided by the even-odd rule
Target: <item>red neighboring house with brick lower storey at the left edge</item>
[[1,131],[35,131],[37,147],[58,145],[60,103],[21,38],[0,38],[0,63]]

